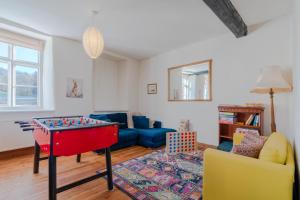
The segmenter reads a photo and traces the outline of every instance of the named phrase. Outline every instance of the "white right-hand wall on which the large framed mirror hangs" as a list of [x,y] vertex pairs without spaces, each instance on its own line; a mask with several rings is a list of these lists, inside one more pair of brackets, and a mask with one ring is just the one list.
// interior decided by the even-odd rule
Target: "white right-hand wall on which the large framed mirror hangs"
[[[232,34],[195,43],[142,62],[140,69],[140,111],[160,119],[165,127],[177,128],[180,119],[189,119],[198,132],[198,141],[218,143],[219,104],[265,103],[265,131],[269,128],[269,96],[251,94],[260,68],[280,65],[288,72],[292,66],[290,17],[268,22],[247,37]],[[168,102],[167,69],[172,66],[213,59],[211,102]],[[157,95],[147,95],[147,83],[158,84]],[[290,136],[290,94],[276,94],[277,129]]]

